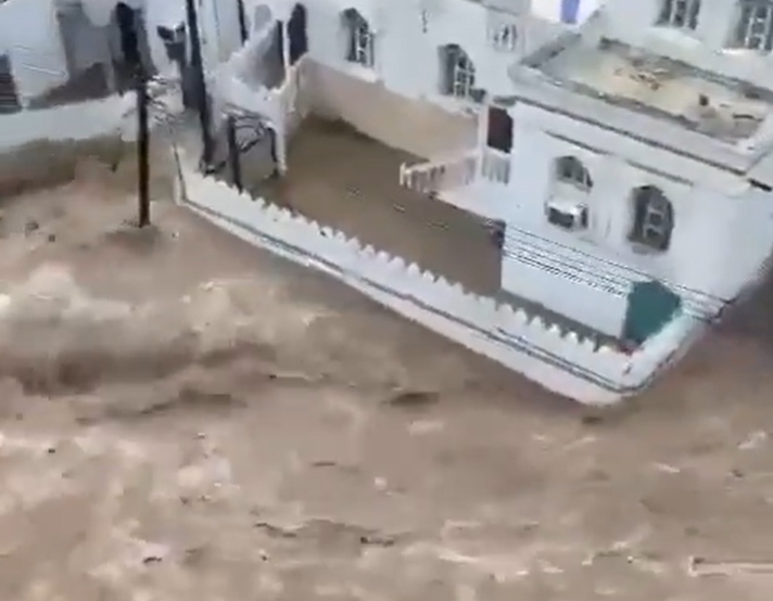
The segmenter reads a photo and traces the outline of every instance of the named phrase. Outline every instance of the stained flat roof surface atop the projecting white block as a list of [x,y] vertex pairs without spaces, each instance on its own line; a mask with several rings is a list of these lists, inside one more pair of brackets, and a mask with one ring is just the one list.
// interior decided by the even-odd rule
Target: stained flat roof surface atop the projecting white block
[[524,66],[562,88],[728,143],[755,136],[773,114],[768,90],[606,38],[573,36]]

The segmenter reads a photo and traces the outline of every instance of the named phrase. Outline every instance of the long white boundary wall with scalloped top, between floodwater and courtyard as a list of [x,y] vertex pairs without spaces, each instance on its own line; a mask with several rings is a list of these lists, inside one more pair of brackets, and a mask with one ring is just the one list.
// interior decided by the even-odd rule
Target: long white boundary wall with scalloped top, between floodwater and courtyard
[[[646,387],[702,328],[671,322],[633,355],[547,325],[540,317],[465,291],[461,285],[356,239],[240,194],[183,167],[181,201],[257,246],[324,271],[401,315],[588,405],[608,405]],[[182,197],[185,196],[185,197]]]

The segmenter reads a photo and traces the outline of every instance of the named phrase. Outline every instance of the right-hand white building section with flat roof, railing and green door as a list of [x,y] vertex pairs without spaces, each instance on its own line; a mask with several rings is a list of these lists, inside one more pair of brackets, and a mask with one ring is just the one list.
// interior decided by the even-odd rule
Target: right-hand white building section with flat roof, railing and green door
[[635,343],[711,320],[771,254],[772,47],[769,1],[609,0],[510,67],[509,148],[404,177],[506,223],[504,290]]

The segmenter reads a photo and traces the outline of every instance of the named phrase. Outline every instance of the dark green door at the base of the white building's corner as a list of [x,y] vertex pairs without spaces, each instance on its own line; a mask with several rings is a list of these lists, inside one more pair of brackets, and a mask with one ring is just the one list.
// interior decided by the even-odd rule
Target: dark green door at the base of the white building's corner
[[623,340],[644,343],[671,321],[681,308],[682,298],[660,282],[636,282],[629,293]]

